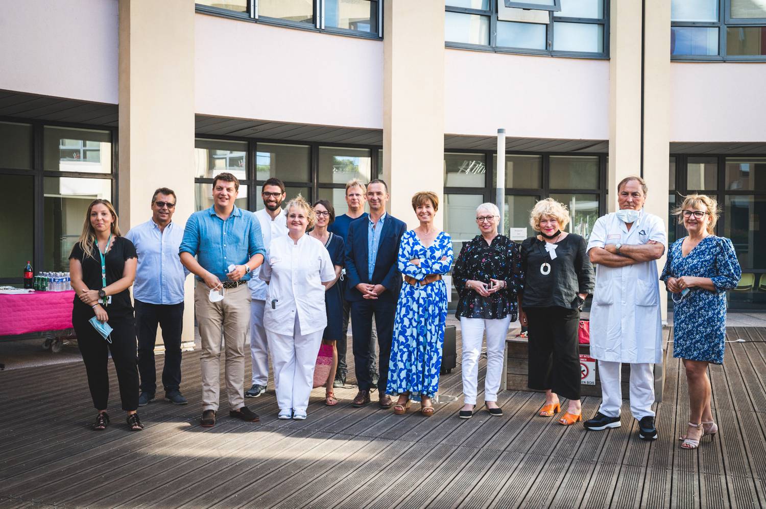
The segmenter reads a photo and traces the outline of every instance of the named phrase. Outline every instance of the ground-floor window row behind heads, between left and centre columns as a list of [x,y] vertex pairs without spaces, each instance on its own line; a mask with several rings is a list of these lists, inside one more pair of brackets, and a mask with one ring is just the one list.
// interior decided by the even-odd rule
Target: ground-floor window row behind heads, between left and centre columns
[[228,171],[240,181],[237,207],[263,208],[263,184],[276,177],[285,184],[286,199],[298,194],[306,201],[325,198],[336,208],[336,215],[345,214],[345,183],[358,178],[366,184],[378,175],[380,164],[380,151],[372,157],[377,147],[208,138],[196,139],[195,147],[197,210],[211,207],[213,178]]

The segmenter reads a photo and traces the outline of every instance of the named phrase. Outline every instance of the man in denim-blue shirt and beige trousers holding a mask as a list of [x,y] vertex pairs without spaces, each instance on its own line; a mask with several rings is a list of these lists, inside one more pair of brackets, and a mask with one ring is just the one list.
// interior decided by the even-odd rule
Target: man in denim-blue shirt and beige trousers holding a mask
[[[202,338],[201,425],[215,425],[221,334],[226,348],[229,416],[255,422],[244,406],[244,354],[250,328],[250,271],[264,263],[264,240],[252,212],[234,205],[239,181],[231,173],[213,180],[213,206],[191,214],[179,248],[181,263],[197,276],[195,312]],[[195,258],[196,256],[196,258]],[[202,284],[204,283],[204,284]]]

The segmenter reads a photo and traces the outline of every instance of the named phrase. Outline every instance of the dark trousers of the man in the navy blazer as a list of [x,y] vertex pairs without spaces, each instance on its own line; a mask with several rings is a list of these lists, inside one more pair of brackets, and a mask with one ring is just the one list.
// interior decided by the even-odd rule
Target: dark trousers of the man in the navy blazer
[[[351,331],[354,337],[354,368],[360,390],[369,390],[372,384],[372,317],[378,332],[378,391],[385,393],[388,385],[388,360],[391,357],[391,338],[394,335],[396,302],[380,299],[362,299],[351,303]],[[372,347],[372,348],[371,348]]]

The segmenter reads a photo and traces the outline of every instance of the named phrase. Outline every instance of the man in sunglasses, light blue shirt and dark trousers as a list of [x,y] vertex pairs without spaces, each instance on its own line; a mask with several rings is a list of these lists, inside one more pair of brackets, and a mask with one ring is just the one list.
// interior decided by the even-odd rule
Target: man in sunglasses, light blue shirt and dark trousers
[[153,400],[157,390],[154,364],[157,325],[162,328],[165,343],[165,366],[162,367],[165,400],[176,405],[187,403],[181,394],[181,333],[184,280],[189,272],[178,257],[184,230],[172,221],[175,201],[172,189],[154,191],[152,219],[131,228],[125,235],[136,246],[139,256],[136,282],[133,283],[141,375],[139,406]]

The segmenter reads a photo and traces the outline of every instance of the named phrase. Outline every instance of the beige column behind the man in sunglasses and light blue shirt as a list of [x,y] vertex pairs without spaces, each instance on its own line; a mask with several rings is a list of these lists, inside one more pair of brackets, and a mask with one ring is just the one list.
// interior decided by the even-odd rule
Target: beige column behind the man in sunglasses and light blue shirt
[[[156,188],[178,196],[173,220],[194,212],[194,0],[119,0],[119,218],[151,217]],[[194,344],[193,279],[186,280],[185,346]]]

